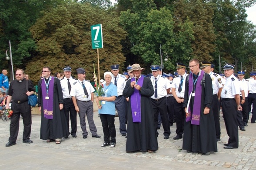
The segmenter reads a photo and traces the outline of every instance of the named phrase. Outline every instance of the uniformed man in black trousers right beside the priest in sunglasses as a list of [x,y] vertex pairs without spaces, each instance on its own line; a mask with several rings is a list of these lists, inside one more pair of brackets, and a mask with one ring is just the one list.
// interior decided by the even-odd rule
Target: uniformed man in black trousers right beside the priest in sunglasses
[[[60,85],[63,92],[64,99],[64,113],[66,116],[66,122],[69,127],[69,121],[71,122],[71,134],[72,137],[76,137],[77,123],[76,123],[76,109],[70,96],[71,88],[74,86],[76,80],[71,77],[71,68],[69,66],[63,69],[65,77],[60,80]],[[69,128],[68,128],[69,129]],[[65,138],[68,138],[66,136]]]

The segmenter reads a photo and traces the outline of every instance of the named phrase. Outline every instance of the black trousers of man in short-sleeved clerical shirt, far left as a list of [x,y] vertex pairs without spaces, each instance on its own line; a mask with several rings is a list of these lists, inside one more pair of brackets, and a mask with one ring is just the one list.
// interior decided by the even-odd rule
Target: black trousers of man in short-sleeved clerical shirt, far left
[[31,107],[28,105],[27,101],[20,104],[13,102],[12,110],[13,115],[11,116],[9,142],[17,141],[20,126],[20,114],[22,115],[24,126],[22,139],[23,141],[30,139],[32,125]]

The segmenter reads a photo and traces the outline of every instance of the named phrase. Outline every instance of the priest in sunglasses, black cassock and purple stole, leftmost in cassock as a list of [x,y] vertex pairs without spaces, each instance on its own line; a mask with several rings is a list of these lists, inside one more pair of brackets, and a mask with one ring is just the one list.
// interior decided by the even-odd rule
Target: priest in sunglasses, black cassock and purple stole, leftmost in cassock
[[61,138],[68,136],[69,131],[63,111],[60,80],[50,74],[51,69],[43,67],[43,78],[38,82],[38,107],[42,115],[40,139],[60,144]]

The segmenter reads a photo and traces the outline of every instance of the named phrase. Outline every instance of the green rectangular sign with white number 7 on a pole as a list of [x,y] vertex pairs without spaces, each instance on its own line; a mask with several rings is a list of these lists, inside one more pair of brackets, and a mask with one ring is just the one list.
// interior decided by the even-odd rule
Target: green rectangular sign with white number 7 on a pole
[[91,26],[91,33],[92,33],[93,49],[103,48],[103,38],[102,38],[101,24]]

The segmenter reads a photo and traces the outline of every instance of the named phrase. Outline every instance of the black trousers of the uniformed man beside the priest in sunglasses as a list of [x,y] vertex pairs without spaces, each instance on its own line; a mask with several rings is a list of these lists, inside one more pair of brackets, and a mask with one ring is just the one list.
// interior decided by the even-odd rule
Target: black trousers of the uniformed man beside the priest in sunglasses
[[65,98],[64,105],[63,105],[64,113],[66,116],[66,122],[69,129],[69,121],[71,122],[71,132],[68,134],[76,134],[77,130],[77,122],[76,122],[76,109],[73,104],[72,98]]

